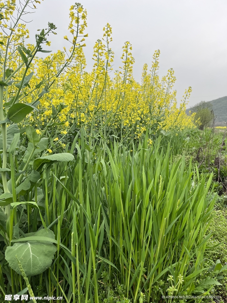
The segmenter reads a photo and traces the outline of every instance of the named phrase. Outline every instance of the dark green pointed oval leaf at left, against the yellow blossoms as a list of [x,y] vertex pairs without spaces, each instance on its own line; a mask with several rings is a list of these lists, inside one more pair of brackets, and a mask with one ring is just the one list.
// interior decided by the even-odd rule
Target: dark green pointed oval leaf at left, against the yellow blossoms
[[15,103],[12,105],[9,110],[7,117],[15,122],[19,123],[21,122],[31,111],[33,108],[30,105],[24,104],[24,103]]

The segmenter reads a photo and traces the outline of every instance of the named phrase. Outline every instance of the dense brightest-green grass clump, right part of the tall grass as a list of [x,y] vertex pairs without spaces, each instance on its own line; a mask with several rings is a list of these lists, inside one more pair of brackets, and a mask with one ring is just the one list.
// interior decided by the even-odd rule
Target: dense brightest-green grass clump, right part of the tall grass
[[[207,197],[211,178],[207,184],[205,176],[198,179],[191,164],[185,168],[184,158],[169,165],[169,149],[166,154],[159,153],[158,146],[147,149],[145,141],[131,155],[123,146],[115,145],[111,150],[106,168],[100,151],[94,163],[99,174],[90,167],[90,178],[84,176],[89,181],[82,181],[84,207],[94,216],[93,229],[95,222],[100,222],[109,242],[109,249],[102,254],[100,240],[95,237],[101,230],[95,227],[95,234],[87,229],[94,247],[99,244],[96,271],[102,266],[98,266],[99,258],[108,259],[112,263],[108,263],[109,270],[107,264],[103,266],[110,280],[117,277],[135,301],[139,290],[148,301],[155,299],[155,283],[167,281],[168,275],[173,276],[177,291],[191,293],[194,278],[202,269],[205,233],[214,203]],[[170,289],[167,284],[163,291],[169,293]]]

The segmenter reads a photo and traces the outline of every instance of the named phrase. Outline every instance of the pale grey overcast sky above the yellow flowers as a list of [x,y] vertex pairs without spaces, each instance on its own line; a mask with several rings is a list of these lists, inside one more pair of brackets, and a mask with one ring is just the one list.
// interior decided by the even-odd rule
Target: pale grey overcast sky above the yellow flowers
[[[58,35],[49,38],[50,49],[67,46],[69,8],[72,0],[44,0],[35,13],[26,17],[30,37],[48,21],[57,26]],[[152,55],[160,49],[160,78],[173,68],[174,88],[180,101],[192,87],[190,107],[201,100],[227,95],[227,1],[226,0],[84,0],[87,9],[87,71],[92,70],[93,46],[103,35],[104,25],[113,28],[111,48],[115,52],[113,70],[121,65],[122,46],[130,41],[135,64],[133,76],[140,82],[143,64],[151,67]],[[32,41],[31,41],[32,42]]]

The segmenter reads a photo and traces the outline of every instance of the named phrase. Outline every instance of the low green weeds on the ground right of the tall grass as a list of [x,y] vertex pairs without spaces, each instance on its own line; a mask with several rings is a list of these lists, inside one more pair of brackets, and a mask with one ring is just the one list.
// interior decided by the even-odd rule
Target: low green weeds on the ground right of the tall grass
[[[177,134],[177,136],[176,136]],[[213,127],[199,129],[185,129],[183,132],[167,134],[162,138],[163,146],[171,145],[173,158],[179,160],[185,155],[186,165],[192,163],[198,167],[199,174],[207,174],[207,178],[212,173],[213,192],[217,194],[211,225],[208,233],[212,236],[207,242],[205,251],[205,263],[213,267],[217,262],[226,265],[226,127]],[[209,271],[208,271],[209,274]],[[222,285],[215,286],[212,293],[221,295],[226,301],[226,272],[222,275]]]

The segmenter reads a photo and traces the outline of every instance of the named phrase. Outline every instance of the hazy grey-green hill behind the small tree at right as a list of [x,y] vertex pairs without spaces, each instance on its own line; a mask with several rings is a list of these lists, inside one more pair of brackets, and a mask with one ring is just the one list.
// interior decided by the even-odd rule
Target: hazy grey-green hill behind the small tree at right
[[[226,126],[227,121],[227,96],[218,98],[212,101],[207,101],[207,106],[214,111],[215,126]],[[194,111],[193,107],[186,109],[186,114],[189,115],[189,111]]]

